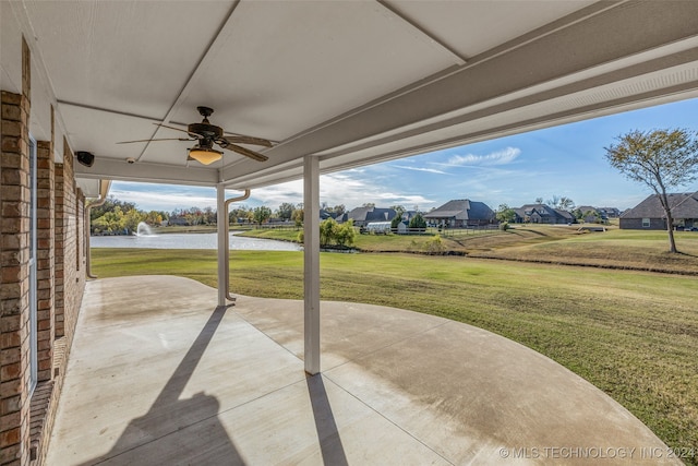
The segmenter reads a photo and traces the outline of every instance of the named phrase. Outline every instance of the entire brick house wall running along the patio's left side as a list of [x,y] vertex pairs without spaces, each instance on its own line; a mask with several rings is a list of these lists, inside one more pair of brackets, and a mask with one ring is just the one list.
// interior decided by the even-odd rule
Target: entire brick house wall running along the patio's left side
[[[0,465],[41,465],[85,286],[85,200],[64,144],[36,143],[37,387],[31,396],[31,55],[22,41],[22,94],[2,91],[0,157]],[[47,109],[43,109],[47,110]],[[60,315],[58,314],[60,304]]]

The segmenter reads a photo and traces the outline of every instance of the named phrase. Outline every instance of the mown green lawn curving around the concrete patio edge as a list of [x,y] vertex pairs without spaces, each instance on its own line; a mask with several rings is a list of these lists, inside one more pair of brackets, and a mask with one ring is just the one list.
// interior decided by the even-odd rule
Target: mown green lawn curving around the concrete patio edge
[[[301,299],[302,255],[231,251],[232,292]],[[670,446],[698,449],[695,277],[416,254],[323,253],[321,268],[323,299],[394,306],[498,333],[605,391]],[[95,249],[93,270],[215,286],[216,253]]]

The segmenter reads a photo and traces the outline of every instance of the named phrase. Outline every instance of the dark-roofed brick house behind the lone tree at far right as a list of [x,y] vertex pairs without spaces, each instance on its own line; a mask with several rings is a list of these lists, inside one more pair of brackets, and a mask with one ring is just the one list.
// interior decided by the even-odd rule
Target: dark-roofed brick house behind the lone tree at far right
[[[674,226],[679,229],[698,227],[698,192],[669,194]],[[659,196],[652,194],[621,215],[622,229],[665,230],[666,216]]]

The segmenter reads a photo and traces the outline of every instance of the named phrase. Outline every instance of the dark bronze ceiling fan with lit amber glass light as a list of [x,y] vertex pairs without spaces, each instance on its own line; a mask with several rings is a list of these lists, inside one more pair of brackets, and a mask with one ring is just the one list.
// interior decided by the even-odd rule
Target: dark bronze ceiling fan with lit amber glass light
[[130,144],[134,142],[152,142],[152,141],[196,141],[196,144],[192,148],[189,150],[189,158],[190,160],[196,160],[204,165],[210,165],[216,160],[220,160],[222,157],[222,152],[214,148],[214,144],[220,146],[221,148],[227,148],[228,151],[237,152],[238,154],[244,155],[245,157],[250,157],[253,160],[257,162],[266,162],[269,159],[266,155],[260,154],[258,152],[251,151],[246,147],[242,147],[238,144],[251,144],[251,145],[261,145],[264,147],[272,147],[272,142],[261,138],[245,136],[245,135],[237,135],[237,134],[226,134],[226,132],[220,127],[216,127],[215,124],[210,124],[208,121],[208,117],[214,112],[213,108],[209,107],[196,107],[198,112],[204,119],[201,123],[191,123],[186,126],[185,130],[181,128],[169,127],[167,124],[154,123],[158,127],[167,128],[170,130],[182,131],[189,134],[189,138],[168,138],[168,139],[151,139],[151,140],[140,140],[140,141],[123,141],[118,142],[117,144]]

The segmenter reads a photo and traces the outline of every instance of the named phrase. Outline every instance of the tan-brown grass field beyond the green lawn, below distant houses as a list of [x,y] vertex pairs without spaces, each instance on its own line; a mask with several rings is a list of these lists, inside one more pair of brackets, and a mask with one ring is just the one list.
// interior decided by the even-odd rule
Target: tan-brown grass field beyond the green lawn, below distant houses
[[[665,231],[621,230],[580,232],[579,225],[517,225],[508,231],[458,234],[442,237],[447,251],[471,258],[506,259],[564,265],[666,272],[698,275],[698,234],[676,231],[679,254],[667,253]],[[244,236],[294,241],[298,231],[251,230]],[[354,247],[362,252],[422,252],[429,235],[357,235]]]

